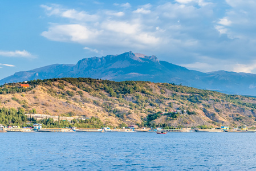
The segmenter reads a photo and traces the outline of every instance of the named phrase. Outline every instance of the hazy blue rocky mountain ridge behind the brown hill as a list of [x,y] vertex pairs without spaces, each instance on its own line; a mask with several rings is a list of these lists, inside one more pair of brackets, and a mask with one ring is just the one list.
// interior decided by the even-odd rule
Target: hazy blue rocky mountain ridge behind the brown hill
[[0,80],[0,84],[49,78],[99,78],[115,81],[141,80],[175,83],[214,91],[256,96],[256,75],[215,71],[199,72],[133,52],[79,60],[77,64],[53,64],[30,71],[17,72]]

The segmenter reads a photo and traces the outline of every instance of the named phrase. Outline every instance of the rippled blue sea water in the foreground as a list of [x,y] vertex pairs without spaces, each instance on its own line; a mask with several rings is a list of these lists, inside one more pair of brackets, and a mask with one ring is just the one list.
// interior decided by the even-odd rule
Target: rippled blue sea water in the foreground
[[256,170],[256,133],[0,133],[0,170]]

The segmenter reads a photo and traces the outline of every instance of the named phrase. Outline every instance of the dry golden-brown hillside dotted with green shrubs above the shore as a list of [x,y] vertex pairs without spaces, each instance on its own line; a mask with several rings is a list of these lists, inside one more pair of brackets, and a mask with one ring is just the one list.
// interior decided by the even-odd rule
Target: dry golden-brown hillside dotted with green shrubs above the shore
[[[140,81],[113,82],[62,78],[0,87],[0,108],[26,113],[98,117],[106,125],[141,127],[220,127],[255,125],[256,99],[238,95]],[[174,111],[180,110],[181,113]]]

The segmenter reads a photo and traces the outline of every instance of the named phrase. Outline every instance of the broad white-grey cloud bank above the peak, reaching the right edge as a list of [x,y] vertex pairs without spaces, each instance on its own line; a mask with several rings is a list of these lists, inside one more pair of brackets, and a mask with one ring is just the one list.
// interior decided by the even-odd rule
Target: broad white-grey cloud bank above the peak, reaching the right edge
[[256,72],[251,64],[256,54],[256,1],[177,0],[136,9],[129,3],[113,5],[119,11],[89,13],[42,5],[48,17],[63,18],[42,36],[83,44],[88,52],[100,49],[105,55],[129,50],[155,54],[199,71]]

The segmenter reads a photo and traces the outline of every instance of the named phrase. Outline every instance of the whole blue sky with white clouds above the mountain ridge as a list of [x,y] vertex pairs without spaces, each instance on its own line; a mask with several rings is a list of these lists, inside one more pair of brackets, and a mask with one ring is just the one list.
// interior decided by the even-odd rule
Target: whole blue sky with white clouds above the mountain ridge
[[0,1],[0,79],[133,51],[256,74],[256,1]]

